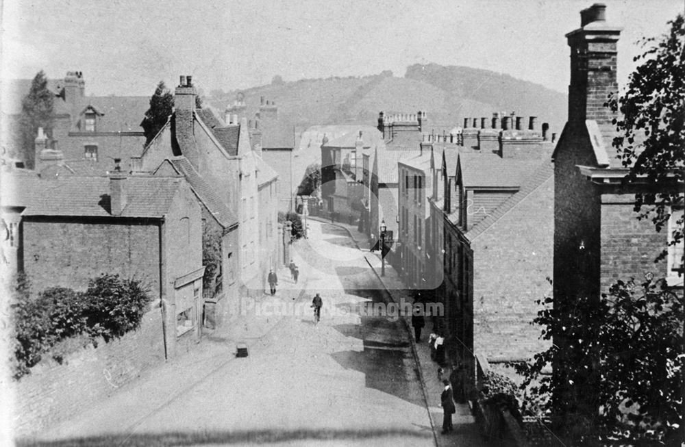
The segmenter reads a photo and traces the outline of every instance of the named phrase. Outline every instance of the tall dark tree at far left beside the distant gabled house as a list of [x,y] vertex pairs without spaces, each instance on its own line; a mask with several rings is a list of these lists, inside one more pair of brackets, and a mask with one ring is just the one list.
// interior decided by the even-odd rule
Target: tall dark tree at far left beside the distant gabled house
[[54,101],[55,94],[48,90],[47,77],[41,70],[34,77],[29,92],[21,101],[22,150],[28,168],[35,166],[34,141],[38,127],[42,127],[49,136],[52,133]]

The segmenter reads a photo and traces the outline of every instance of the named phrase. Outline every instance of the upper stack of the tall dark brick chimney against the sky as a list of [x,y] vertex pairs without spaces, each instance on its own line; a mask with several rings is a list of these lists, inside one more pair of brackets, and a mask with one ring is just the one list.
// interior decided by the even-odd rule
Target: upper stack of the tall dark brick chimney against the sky
[[616,83],[616,42],[620,27],[606,23],[606,5],[595,3],[580,12],[580,28],[566,34],[571,47],[569,123],[596,120],[610,123],[614,118],[604,107],[608,94],[619,89]]

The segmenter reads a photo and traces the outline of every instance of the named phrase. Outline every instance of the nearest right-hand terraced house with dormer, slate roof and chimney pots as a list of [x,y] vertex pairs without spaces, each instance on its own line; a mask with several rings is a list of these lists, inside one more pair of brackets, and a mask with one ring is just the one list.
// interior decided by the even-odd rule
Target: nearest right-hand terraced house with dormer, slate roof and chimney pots
[[477,127],[463,129],[453,181],[444,177],[432,203],[432,231],[443,233],[433,248],[444,251],[443,329],[451,355],[466,362],[474,352],[497,363],[540,348],[529,322],[550,290],[553,144],[535,117],[527,128],[523,117],[510,122],[499,113],[465,119]]

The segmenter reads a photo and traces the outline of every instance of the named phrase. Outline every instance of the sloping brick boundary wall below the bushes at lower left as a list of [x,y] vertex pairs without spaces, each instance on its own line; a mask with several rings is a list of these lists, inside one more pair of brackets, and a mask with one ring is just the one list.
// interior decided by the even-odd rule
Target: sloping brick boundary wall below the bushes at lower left
[[29,435],[112,394],[149,366],[164,361],[162,314],[153,307],[140,328],[110,343],[67,355],[59,365],[44,360],[14,383],[14,430]]

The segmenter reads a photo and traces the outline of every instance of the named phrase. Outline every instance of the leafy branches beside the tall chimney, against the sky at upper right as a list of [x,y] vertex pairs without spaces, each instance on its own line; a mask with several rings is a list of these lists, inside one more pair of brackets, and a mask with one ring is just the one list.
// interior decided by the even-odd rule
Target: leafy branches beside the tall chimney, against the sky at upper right
[[[673,205],[682,206],[685,171],[685,26],[682,14],[669,22],[669,34],[641,40],[642,61],[630,74],[626,91],[610,95],[606,105],[621,118],[614,119],[619,136],[612,144],[623,166],[630,168],[625,183],[643,181],[675,184],[668,190],[638,192],[635,211],[649,218],[656,231],[667,225]],[[669,244],[683,240],[683,219],[677,220]],[[656,259],[667,255],[664,250]],[[681,259],[682,264],[682,259]]]

